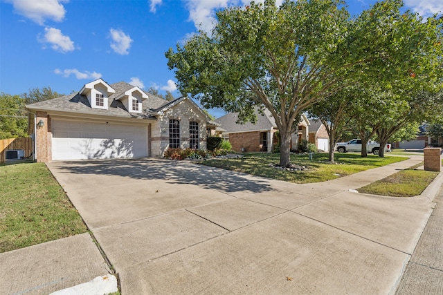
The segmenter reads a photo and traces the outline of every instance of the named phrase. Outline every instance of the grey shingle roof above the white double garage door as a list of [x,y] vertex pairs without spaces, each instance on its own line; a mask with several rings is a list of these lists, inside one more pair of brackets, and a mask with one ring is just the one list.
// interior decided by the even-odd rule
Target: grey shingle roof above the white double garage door
[[118,95],[124,93],[125,91],[134,88],[134,86],[127,84],[126,82],[118,82],[115,84],[110,84],[110,86],[114,88],[116,93],[109,95],[107,110],[101,108],[91,108],[87,97],[78,93],[49,99],[44,102],[36,102],[35,104],[28,104],[26,107],[31,110],[62,111],[67,113],[83,113],[112,117],[140,117],[149,119],[153,118],[154,114],[159,108],[163,108],[166,104],[170,104],[170,102],[162,99],[161,97],[151,93],[146,93],[149,98],[142,102],[142,113],[129,113],[123,103],[114,98],[118,97]]

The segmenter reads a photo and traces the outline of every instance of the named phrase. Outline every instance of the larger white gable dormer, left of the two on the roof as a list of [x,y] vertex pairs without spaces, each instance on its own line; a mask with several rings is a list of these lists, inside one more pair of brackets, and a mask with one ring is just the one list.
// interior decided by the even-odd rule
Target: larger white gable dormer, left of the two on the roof
[[88,97],[91,108],[102,108],[105,110],[108,109],[108,97],[113,93],[116,93],[114,88],[102,79],[84,84],[80,91],[80,95]]

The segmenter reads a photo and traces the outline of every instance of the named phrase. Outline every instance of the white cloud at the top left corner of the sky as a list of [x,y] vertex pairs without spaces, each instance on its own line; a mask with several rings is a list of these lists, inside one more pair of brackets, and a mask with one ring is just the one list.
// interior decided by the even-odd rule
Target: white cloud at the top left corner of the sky
[[66,13],[62,3],[67,3],[69,0],[8,0],[8,2],[12,3],[17,14],[43,26],[46,19],[62,21]]

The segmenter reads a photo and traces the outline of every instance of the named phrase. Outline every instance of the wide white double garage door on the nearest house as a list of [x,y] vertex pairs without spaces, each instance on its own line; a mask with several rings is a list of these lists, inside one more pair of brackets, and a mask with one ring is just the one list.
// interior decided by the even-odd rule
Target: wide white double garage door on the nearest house
[[147,157],[147,126],[53,121],[53,160]]

